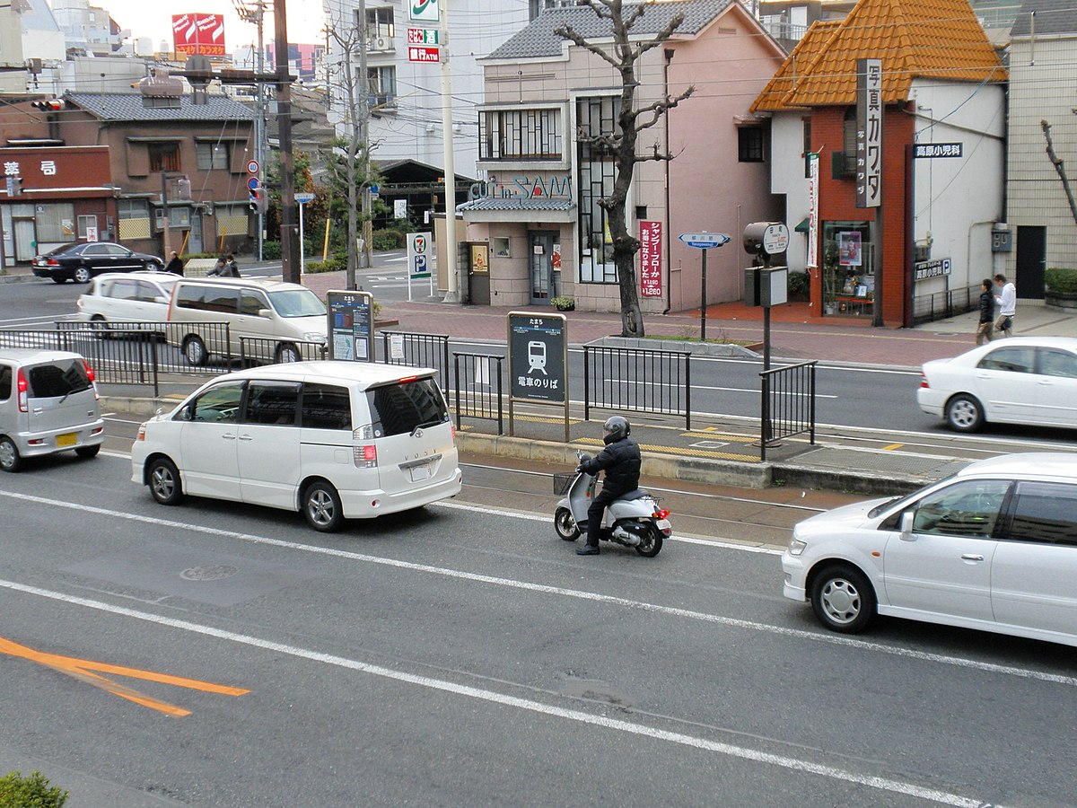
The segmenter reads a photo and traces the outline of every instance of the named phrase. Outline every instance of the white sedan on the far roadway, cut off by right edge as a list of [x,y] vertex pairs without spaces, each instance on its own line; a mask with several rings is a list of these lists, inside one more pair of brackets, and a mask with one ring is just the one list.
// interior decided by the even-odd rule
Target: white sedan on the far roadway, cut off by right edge
[[917,403],[957,432],[985,421],[1077,427],[1077,339],[1012,337],[926,362]]

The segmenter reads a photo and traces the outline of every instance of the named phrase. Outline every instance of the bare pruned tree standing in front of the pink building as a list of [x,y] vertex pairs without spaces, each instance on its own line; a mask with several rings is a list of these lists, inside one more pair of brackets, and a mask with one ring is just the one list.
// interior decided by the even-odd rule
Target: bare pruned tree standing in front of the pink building
[[[643,314],[640,311],[640,296],[635,283],[635,253],[640,249],[640,240],[628,232],[625,211],[628,189],[637,163],[670,161],[674,155],[661,151],[657,141],[651,152],[638,154],[637,141],[641,131],[657,124],[662,115],[690,96],[696,88],[688,87],[675,98],[666,95],[660,100],[635,109],[635,90],[639,87],[635,66],[643,54],[658,47],[670,38],[684,22],[684,14],[675,14],[666,27],[651,39],[637,39],[633,42],[632,27],[647,9],[655,5],[655,0],[639,3],[623,3],[623,0],[579,0],[578,4],[588,6],[599,18],[610,20],[613,27],[613,45],[609,50],[588,42],[570,25],[562,25],[554,32],[610,62],[620,74],[620,105],[616,129],[612,133],[581,130],[576,138],[581,142],[607,149],[614,154],[613,193],[603,197],[599,205],[606,211],[610,236],[613,239],[614,265],[617,267],[617,281],[620,285],[621,336],[639,337],[644,335]],[[703,301],[702,305],[705,306],[707,302]]]

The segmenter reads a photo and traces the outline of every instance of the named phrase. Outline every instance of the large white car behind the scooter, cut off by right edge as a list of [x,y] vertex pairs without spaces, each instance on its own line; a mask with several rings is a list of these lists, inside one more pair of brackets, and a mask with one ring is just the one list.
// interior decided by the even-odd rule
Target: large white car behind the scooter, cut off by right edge
[[876,614],[1077,645],[1077,454],[980,460],[798,524],[783,594],[834,631]]

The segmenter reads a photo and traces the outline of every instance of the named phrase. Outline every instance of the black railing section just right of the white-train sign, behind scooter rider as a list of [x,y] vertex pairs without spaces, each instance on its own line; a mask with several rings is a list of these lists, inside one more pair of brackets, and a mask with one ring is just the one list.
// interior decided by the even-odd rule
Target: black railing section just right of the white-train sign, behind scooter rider
[[584,418],[591,407],[684,416],[691,429],[691,354],[584,346]]

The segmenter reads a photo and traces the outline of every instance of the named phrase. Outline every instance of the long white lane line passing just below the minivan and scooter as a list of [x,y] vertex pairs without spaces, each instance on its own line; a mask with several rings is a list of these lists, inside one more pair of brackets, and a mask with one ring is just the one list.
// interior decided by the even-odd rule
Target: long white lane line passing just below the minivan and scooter
[[[845,637],[842,635],[834,633],[819,633],[814,631],[805,631],[799,628],[786,628],[784,626],[771,626],[766,623],[756,623],[754,621],[744,621],[737,617],[724,617],[718,614],[708,614],[707,612],[695,612],[688,609],[675,609],[673,607],[658,605],[657,603],[647,603],[642,600],[628,600],[627,598],[618,598],[613,595],[601,595],[593,591],[585,591],[582,589],[565,589],[560,586],[547,586],[546,584],[533,584],[527,581],[516,581],[514,579],[496,577],[494,575],[482,575],[477,572],[464,572],[462,570],[453,570],[447,567],[432,567],[425,563],[416,563],[414,561],[400,561],[395,558],[381,558],[379,556],[370,556],[365,553],[352,553],[351,551],[335,549],[333,547],[314,547],[308,544],[298,544],[296,542],[285,542],[281,539],[269,539],[264,535],[255,535],[253,533],[241,533],[236,530],[222,530],[221,528],[205,527],[201,525],[188,525],[182,521],[172,521],[171,519],[158,519],[153,516],[140,516],[138,514],[128,514],[122,511],[111,511],[103,507],[94,507],[93,505],[84,505],[75,502],[65,502],[61,500],[51,500],[44,497],[33,497],[26,493],[15,493],[12,491],[0,491],[0,497],[8,497],[14,500],[22,500],[24,502],[36,502],[38,504],[51,505],[53,507],[64,507],[71,511],[78,511],[80,514],[97,514],[99,516],[111,516],[117,519],[127,519],[128,521],[139,521],[144,525],[156,525],[157,527],[174,528],[178,530],[190,530],[196,533],[205,533],[207,535],[220,535],[228,539],[238,539],[240,541],[249,542],[251,544],[262,544],[270,547],[284,547],[286,549],[296,549],[303,553],[312,553],[324,556],[334,556],[336,558],[347,558],[352,561],[365,561],[367,563],[377,563],[383,567],[395,567],[402,570],[410,570],[412,572],[428,572],[434,575],[443,575],[445,577],[454,577],[461,581],[471,581],[479,584],[490,584],[493,586],[504,586],[512,589],[522,589],[524,591],[541,593],[544,595],[557,595],[565,598],[576,598],[578,600],[591,600],[599,603],[606,603],[610,605],[623,607],[626,609],[635,609],[643,612],[651,612],[654,614],[665,614],[673,617],[685,617],[688,619],[700,621],[703,623],[713,623],[722,626],[729,626],[731,628],[741,628],[750,631],[763,631],[765,633],[777,635],[779,637],[794,637],[801,640],[811,640],[814,642],[824,642],[830,645],[841,645],[851,649],[861,649],[863,651],[873,651],[880,654],[890,654],[892,656],[899,656],[906,659],[917,659],[920,661],[936,663],[939,665],[951,665],[957,668],[967,668],[971,670],[979,670],[987,673],[1002,673],[1005,675],[1019,677],[1021,679],[1034,679],[1041,682],[1052,682],[1054,684],[1064,684],[1071,687],[1077,687],[1077,678],[1074,677],[1063,677],[1057,673],[1046,673],[1038,670],[1030,670],[1027,668],[1016,668],[1009,665],[996,665],[994,663],[981,663],[975,659],[965,659],[956,656],[945,656],[942,654],[933,654],[924,651],[913,651],[911,649],[901,649],[892,645],[882,645],[878,643],[867,642],[866,640],[857,640],[851,637]],[[476,509],[466,509],[474,511]],[[516,514],[508,514],[507,516],[512,518],[519,518]],[[740,549],[740,547],[738,547]]]

